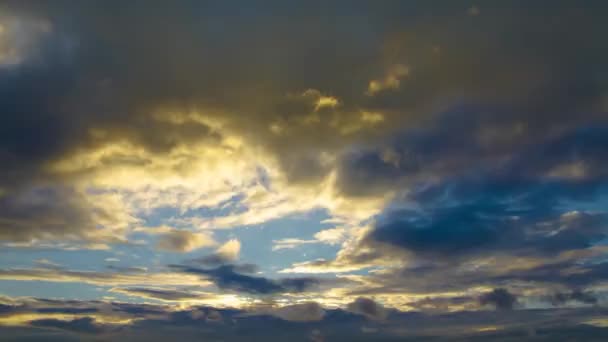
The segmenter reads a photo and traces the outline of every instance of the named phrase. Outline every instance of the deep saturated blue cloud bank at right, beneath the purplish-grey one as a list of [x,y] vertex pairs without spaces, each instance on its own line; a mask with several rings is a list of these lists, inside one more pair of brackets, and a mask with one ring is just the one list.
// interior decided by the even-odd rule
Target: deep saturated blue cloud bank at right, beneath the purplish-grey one
[[[454,194],[451,185],[430,203]],[[490,190],[471,199],[455,195],[445,203],[431,204],[422,212],[390,212],[378,221],[368,239],[421,256],[470,257],[492,252],[555,255],[591,247],[606,236],[605,214],[560,213],[554,204],[543,204],[547,200],[542,198],[545,190],[535,189],[532,184],[528,189],[530,192],[513,191],[505,195]],[[519,201],[508,203],[509,196]]]

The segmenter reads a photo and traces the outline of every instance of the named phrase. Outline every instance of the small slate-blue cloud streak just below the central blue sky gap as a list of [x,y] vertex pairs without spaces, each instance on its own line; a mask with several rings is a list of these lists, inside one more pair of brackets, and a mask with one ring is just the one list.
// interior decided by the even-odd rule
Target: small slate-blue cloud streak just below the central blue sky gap
[[171,265],[171,268],[190,274],[198,274],[209,278],[217,287],[225,290],[252,294],[275,294],[286,292],[304,292],[319,286],[316,278],[281,278],[268,279],[242,273],[238,266],[223,265],[212,269]]

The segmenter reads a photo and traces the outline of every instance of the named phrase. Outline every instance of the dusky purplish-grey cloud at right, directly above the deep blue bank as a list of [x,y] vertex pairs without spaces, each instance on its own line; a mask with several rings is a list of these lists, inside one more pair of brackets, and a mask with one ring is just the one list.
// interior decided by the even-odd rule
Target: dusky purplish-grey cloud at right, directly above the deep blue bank
[[[424,184],[468,175],[491,176],[503,185],[519,186],[553,179],[556,186],[569,190],[565,196],[575,196],[592,195],[597,185],[605,183],[605,119],[571,114],[568,119],[574,115],[581,120],[559,122],[554,118],[536,132],[525,118],[512,117],[510,112],[498,109],[498,114],[482,115],[492,110],[455,109],[424,129],[406,131],[377,147],[346,154],[339,186],[347,193],[370,194],[404,182]],[[553,125],[560,127],[549,127]]]

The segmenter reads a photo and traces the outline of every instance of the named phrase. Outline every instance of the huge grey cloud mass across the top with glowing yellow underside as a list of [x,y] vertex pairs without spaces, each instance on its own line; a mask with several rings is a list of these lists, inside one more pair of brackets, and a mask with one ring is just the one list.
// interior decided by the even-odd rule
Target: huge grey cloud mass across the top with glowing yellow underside
[[[197,11],[191,4],[176,4],[160,10],[133,5],[108,25],[111,5],[99,10],[87,4],[5,4],[7,17],[25,23],[25,28],[36,28],[26,32],[44,34],[35,34],[35,39],[25,34],[31,41],[26,44],[28,53],[22,57],[19,52],[18,65],[1,71],[5,81],[0,88],[6,96],[0,108],[8,113],[0,125],[2,165],[7,165],[2,170],[2,192],[19,197],[43,181],[55,187],[115,189],[129,195],[126,206],[158,207],[163,202],[183,208],[217,206],[232,197],[228,189],[249,184],[261,166],[271,183],[281,187],[319,185],[339,171],[341,185],[360,179],[353,183],[365,184],[370,190],[363,192],[377,195],[376,190],[392,190],[393,181],[372,177],[374,181],[366,183],[365,177],[345,175],[337,161],[352,149],[382,145],[398,131],[443,121],[440,113],[458,110],[462,103],[488,108],[478,108],[485,114],[465,115],[473,119],[463,120],[454,126],[459,129],[443,137],[483,138],[496,147],[489,153],[496,159],[508,141],[531,143],[546,137],[538,133],[599,117],[593,109],[601,102],[604,85],[596,75],[604,69],[606,51],[594,43],[601,40],[603,25],[595,6],[582,9],[585,15],[570,17],[568,25],[554,23],[551,32],[538,18],[569,13],[567,6],[542,11],[508,6],[504,10],[510,15],[488,10],[490,19],[479,23],[482,29],[458,19],[461,8],[442,8],[443,17],[450,20],[441,32],[432,20],[413,20],[414,13],[425,13],[414,10],[418,6],[355,6],[355,12],[373,13],[364,25],[356,16],[337,23],[333,17],[318,20],[312,7],[290,23],[268,21],[252,11],[248,12],[251,22],[230,21],[230,29],[219,38],[213,29],[216,24],[203,23],[215,23],[214,13],[223,8]],[[333,13],[339,6],[330,7]],[[293,9],[269,11],[280,18]],[[170,25],[159,25],[157,19],[167,12],[175,19]],[[75,17],[77,22],[71,20]],[[513,18],[519,18],[517,25]],[[318,30],[308,30],[311,22]],[[243,30],[244,25],[256,30]],[[6,36],[12,37],[12,25],[4,26]],[[531,31],[537,34],[529,35]],[[563,34],[563,40],[555,42],[553,32]],[[142,35],[154,39],[142,40]],[[13,50],[14,42],[7,44],[6,51]],[[429,48],[437,44],[442,47],[439,56]],[[29,53],[30,46],[35,53]],[[535,47],[534,53],[529,46]],[[319,53],[311,54],[313,50]],[[159,53],[150,56],[143,51]],[[251,56],[247,63],[225,58],[244,55]],[[472,60],[477,62],[473,65]],[[206,77],[201,80],[196,75]],[[269,81],[257,87],[260,79]],[[374,96],[365,96],[366,91]],[[509,114],[494,115],[494,110]],[[479,125],[471,126],[473,134],[463,134],[462,127],[471,121]],[[507,139],[509,135],[517,139]],[[463,139],[462,145],[468,143]],[[456,148],[458,144],[451,145],[453,152],[472,155],[466,148]],[[247,160],[247,167],[232,157],[214,156],[218,151]],[[437,151],[441,149],[431,149],[429,156]],[[419,155],[416,149],[413,152],[416,158],[401,159],[416,160]],[[254,153],[258,160],[249,160]],[[242,159],[244,155],[249,159]],[[453,164],[467,164],[453,159],[419,165],[451,169]],[[233,170],[231,177],[224,177],[226,170]],[[390,175],[390,168],[385,171]],[[229,186],[222,187],[231,178]],[[398,178],[394,180],[403,180]],[[180,190],[184,184],[200,191]],[[355,200],[338,195],[356,193],[355,185],[347,186],[350,191],[328,186],[331,198],[310,199],[305,207],[333,212],[339,206],[352,207]],[[296,193],[291,192],[290,201],[304,202],[306,196]],[[182,195],[187,199],[175,200]],[[263,214],[252,209],[255,214],[222,221],[260,223],[297,211],[296,205],[274,211],[271,207],[264,207]],[[90,209],[83,212],[92,215]]]

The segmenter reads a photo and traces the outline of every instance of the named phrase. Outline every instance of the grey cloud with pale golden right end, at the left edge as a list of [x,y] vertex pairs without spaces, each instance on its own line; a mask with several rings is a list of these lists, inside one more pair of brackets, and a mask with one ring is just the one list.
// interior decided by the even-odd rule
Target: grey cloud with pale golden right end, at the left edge
[[[0,240],[124,243],[137,222],[111,195],[40,186],[0,196]],[[101,228],[101,229],[100,229]]]

